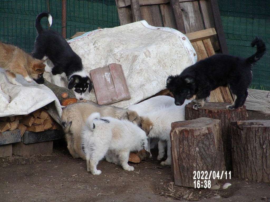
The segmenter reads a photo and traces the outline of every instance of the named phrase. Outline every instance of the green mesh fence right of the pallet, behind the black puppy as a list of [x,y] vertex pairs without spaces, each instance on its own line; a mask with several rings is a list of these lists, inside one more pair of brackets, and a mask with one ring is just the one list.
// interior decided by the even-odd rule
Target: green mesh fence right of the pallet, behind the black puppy
[[218,0],[222,25],[232,55],[249,57],[256,52],[250,43],[255,36],[266,43],[266,54],[253,67],[251,88],[270,90],[270,1]]

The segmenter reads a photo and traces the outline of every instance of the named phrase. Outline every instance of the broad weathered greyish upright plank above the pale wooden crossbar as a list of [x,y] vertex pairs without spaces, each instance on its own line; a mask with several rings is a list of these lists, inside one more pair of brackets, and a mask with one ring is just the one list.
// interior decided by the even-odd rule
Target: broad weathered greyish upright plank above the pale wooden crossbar
[[203,22],[197,1],[180,2],[186,33],[203,30]]

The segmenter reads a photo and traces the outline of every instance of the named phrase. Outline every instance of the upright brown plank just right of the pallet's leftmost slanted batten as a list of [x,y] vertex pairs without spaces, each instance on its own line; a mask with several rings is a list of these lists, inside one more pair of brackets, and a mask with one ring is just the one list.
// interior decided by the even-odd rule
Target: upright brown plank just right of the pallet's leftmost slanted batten
[[162,27],[160,11],[158,5],[141,6],[142,19],[149,25]]

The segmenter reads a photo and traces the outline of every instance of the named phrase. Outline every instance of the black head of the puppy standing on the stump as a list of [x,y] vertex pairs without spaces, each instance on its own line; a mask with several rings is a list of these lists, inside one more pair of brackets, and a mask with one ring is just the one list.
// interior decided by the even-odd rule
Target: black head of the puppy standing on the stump
[[191,77],[169,76],[166,88],[173,93],[175,105],[183,105],[185,99],[195,95],[195,81]]

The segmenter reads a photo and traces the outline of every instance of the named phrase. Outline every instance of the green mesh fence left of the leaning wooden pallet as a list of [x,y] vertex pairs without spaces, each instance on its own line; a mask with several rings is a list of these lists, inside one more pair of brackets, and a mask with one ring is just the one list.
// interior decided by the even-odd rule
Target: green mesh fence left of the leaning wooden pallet
[[[62,0],[1,0],[0,40],[19,46],[28,53],[33,51],[37,35],[35,19],[43,11],[53,17],[51,29],[61,33]],[[76,32],[120,25],[115,0],[68,0],[66,16],[67,38]],[[48,28],[46,18],[42,19],[42,26]]]

